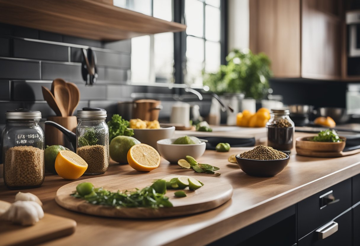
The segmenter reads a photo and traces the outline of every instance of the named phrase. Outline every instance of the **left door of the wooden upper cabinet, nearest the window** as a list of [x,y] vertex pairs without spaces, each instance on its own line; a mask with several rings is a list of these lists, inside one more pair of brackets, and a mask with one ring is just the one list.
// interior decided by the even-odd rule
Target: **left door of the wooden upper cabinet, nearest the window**
[[300,77],[300,0],[249,1],[249,47],[271,60],[274,77]]

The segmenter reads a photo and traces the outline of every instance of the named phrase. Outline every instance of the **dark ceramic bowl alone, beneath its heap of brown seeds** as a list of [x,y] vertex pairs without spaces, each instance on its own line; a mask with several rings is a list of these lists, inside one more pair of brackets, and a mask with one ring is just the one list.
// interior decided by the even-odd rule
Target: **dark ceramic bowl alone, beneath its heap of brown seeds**
[[289,156],[279,160],[251,160],[240,158],[239,155],[236,155],[239,167],[251,176],[274,176],[284,170],[289,163]]

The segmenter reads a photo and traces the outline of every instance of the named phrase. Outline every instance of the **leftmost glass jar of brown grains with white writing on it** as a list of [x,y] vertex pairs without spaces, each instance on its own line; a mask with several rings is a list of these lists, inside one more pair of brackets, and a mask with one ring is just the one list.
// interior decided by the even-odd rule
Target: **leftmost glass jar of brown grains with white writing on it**
[[44,132],[40,119],[37,110],[6,111],[2,138],[4,183],[10,189],[38,187],[44,182]]

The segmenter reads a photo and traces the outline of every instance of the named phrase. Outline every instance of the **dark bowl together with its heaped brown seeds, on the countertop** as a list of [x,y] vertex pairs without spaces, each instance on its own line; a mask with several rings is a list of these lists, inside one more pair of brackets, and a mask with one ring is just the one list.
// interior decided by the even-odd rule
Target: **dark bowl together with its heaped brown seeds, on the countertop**
[[284,170],[289,163],[287,154],[264,145],[237,154],[235,157],[241,170],[251,176],[274,176]]

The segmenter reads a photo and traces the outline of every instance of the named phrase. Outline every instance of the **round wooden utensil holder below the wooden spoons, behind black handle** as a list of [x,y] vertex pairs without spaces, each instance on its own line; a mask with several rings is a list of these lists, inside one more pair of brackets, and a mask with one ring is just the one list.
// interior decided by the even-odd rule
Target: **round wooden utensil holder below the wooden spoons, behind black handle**
[[[56,122],[74,133],[76,131],[76,126],[77,126],[76,116],[67,116],[67,117],[49,116],[48,120]],[[71,143],[64,136],[64,134],[62,132],[60,132],[57,128],[55,128],[53,126],[49,126],[46,124],[45,124],[45,144],[49,145],[49,146],[50,145],[62,145],[64,147],[67,147],[70,150],[74,151]]]

